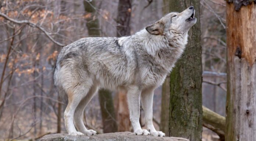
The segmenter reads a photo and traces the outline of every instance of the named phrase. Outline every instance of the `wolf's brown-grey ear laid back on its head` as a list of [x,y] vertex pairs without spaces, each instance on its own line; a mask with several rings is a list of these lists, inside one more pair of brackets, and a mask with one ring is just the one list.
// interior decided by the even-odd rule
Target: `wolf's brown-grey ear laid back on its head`
[[153,35],[160,35],[164,33],[164,24],[162,22],[156,22],[146,27],[147,32]]

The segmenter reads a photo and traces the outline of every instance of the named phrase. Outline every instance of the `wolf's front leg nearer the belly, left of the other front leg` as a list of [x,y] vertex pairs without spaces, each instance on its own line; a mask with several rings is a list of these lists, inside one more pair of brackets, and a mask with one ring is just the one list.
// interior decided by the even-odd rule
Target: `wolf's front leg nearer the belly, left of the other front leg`
[[127,91],[127,100],[128,107],[130,112],[130,120],[132,123],[132,127],[134,129],[134,133],[136,135],[149,135],[149,131],[145,129],[141,129],[141,125],[139,124],[139,116],[140,116],[140,100],[141,98],[141,90],[137,86],[129,87]]

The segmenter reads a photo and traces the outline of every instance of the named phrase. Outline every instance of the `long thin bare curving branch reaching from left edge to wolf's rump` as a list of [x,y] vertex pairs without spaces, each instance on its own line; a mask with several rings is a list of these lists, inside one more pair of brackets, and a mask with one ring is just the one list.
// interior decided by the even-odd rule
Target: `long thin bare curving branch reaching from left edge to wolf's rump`
[[64,47],[65,45],[64,44],[61,44],[60,42],[56,41],[53,39],[53,37],[50,36],[51,33],[47,32],[43,27],[41,26],[38,26],[36,25],[35,23],[32,23],[32,22],[29,22],[28,20],[22,20],[22,21],[18,21],[18,20],[15,20],[13,18],[10,18],[8,17],[6,14],[3,14],[2,12],[0,12],[0,16],[2,16],[3,18],[5,18],[6,20],[8,21],[11,21],[11,22],[14,22],[14,23],[17,23],[17,24],[28,24],[29,26],[31,27],[36,27],[38,28],[39,30],[41,30],[43,33],[45,33],[45,35],[52,41],[54,42],[55,44],[61,46],[61,47]]

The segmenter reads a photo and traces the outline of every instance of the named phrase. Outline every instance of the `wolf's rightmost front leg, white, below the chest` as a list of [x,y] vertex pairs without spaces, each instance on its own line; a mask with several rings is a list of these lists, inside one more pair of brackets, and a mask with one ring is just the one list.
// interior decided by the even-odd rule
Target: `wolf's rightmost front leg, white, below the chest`
[[141,93],[142,108],[145,112],[145,124],[152,136],[165,137],[162,131],[156,131],[153,125],[153,96],[154,89],[145,90]]

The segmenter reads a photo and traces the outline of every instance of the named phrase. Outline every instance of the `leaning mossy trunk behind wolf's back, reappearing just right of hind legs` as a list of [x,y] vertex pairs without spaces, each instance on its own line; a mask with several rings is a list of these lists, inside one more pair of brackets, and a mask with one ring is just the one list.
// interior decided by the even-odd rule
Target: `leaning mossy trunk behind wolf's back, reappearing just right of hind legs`
[[[95,1],[89,3],[83,1],[85,11],[90,13],[90,17],[86,19],[88,35],[91,37],[100,37],[99,19],[96,16]],[[111,92],[109,90],[99,90],[100,109],[102,112],[103,132],[110,133],[117,131],[117,123],[115,120],[115,110]]]

